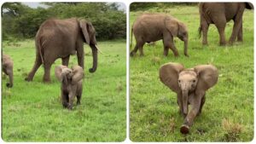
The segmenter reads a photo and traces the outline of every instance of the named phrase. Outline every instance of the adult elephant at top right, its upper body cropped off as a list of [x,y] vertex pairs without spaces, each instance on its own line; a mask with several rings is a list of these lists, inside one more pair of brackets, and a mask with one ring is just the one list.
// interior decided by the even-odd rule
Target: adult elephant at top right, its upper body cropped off
[[199,3],[200,27],[199,35],[203,35],[202,44],[207,45],[207,32],[210,24],[218,28],[219,44],[225,45],[224,30],[226,23],[234,21],[230,44],[242,42],[242,14],[244,9],[253,9],[252,3]]

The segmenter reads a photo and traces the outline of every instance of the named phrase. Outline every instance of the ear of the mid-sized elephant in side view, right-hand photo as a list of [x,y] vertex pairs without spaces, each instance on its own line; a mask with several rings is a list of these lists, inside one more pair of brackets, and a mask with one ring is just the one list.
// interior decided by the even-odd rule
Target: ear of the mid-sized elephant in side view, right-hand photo
[[177,37],[178,23],[176,19],[167,16],[165,19],[165,26],[166,29],[171,32],[172,37]]

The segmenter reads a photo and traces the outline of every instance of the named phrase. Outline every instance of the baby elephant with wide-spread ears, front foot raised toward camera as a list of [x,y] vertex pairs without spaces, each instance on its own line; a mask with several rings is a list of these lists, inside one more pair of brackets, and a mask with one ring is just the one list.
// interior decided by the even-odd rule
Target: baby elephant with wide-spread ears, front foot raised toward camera
[[184,69],[183,65],[170,62],[160,67],[160,81],[177,93],[177,103],[185,117],[180,131],[188,134],[195,116],[201,113],[207,89],[217,84],[218,69],[212,65]]

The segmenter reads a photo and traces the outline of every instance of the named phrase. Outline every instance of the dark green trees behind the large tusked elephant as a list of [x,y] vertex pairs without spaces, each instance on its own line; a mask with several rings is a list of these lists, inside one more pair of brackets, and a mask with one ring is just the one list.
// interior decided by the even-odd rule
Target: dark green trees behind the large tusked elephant
[[3,40],[33,38],[39,26],[51,18],[90,20],[96,38],[108,40],[126,37],[126,14],[118,3],[43,3],[32,9],[23,3],[3,3]]

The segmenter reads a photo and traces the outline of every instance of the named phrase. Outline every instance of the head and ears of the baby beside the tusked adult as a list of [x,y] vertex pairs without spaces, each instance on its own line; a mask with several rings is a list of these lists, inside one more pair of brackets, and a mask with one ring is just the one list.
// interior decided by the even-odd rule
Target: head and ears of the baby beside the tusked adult
[[67,66],[56,66],[55,77],[63,84],[77,84],[83,79],[84,71],[81,66],[73,66],[71,69]]

